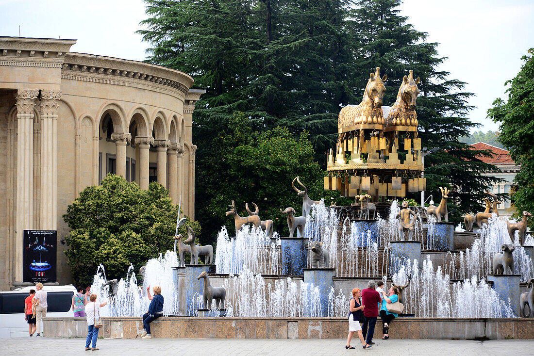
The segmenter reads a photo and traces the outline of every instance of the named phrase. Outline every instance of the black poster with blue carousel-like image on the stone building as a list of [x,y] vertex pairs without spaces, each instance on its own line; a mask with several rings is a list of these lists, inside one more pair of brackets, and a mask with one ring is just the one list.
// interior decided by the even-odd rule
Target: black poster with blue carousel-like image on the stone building
[[25,230],[22,270],[25,282],[56,282],[56,230]]

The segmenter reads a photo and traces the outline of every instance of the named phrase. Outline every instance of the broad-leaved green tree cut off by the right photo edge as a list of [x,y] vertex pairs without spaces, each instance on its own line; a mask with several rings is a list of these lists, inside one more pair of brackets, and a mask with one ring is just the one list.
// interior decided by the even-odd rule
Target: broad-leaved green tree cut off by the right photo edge
[[[493,101],[488,117],[500,123],[499,140],[508,147],[512,159],[521,164],[515,176],[517,191],[512,202],[517,207],[516,216],[523,210],[534,212],[534,48],[521,58],[525,63],[519,73],[506,85],[508,101]],[[529,226],[534,228],[533,219]]]

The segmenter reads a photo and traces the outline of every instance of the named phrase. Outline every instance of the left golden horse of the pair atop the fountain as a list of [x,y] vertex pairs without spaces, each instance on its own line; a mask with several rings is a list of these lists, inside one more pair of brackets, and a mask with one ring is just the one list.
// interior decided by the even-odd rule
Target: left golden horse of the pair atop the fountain
[[340,132],[340,142],[345,132],[360,129],[382,129],[384,118],[382,115],[382,98],[386,92],[384,82],[388,76],[380,78],[380,67],[376,73],[371,73],[365,86],[364,97],[359,105],[343,107],[337,118],[337,128]]

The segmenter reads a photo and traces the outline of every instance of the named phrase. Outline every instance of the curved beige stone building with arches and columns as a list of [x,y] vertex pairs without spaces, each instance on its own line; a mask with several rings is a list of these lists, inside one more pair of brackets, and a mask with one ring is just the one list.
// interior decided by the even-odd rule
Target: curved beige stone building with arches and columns
[[[157,180],[194,219],[190,75],[70,52],[69,39],[0,37],[0,289],[22,281],[22,231],[57,230],[82,189],[108,172]],[[70,283],[65,246],[57,276]]]

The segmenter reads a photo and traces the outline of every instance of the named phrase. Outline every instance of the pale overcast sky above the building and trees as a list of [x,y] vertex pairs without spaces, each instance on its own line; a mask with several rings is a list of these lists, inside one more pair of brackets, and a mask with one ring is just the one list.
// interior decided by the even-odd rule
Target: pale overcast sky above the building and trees
[[[534,1],[404,0],[400,10],[428,33],[428,42],[440,43],[439,55],[448,58],[441,69],[476,94],[469,101],[477,107],[472,121],[483,131],[497,130],[486,110],[495,98],[505,98],[505,81],[534,47]],[[0,0],[2,36],[19,36],[20,25],[23,37],[77,39],[73,52],[133,60],[145,58],[147,44],[135,34],[145,18],[142,0]]]

